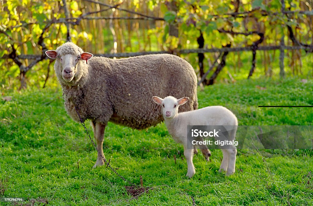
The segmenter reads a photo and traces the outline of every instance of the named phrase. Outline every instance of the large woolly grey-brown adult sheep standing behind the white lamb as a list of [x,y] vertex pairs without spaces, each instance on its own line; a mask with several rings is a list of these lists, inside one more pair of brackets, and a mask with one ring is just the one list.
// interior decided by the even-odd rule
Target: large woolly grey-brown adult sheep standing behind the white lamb
[[77,106],[80,116],[91,120],[98,149],[94,167],[104,164],[101,156],[108,121],[144,129],[163,120],[151,96],[188,96],[190,100],[179,110],[198,108],[196,74],[187,61],[175,55],[109,59],[93,57],[71,42],[46,55],[56,59],[54,70],[68,115],[80,121]]

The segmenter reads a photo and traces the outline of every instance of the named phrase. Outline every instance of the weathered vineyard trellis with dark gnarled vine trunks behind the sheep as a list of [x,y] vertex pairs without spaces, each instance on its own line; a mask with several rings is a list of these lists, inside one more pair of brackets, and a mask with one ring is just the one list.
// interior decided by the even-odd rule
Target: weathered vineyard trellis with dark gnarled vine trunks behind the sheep
[[[47,59],[47,57],[44,55],[44,51],[47,50],[47,46],[45,44],[45,38],[47,38],[46,33],[49,31],[49,28],[53,25],[56,24],[60,24],[63,23],[66,25],[66,39],[67,40],[71,40],[71,28],[70,25],[72,26],[81,26],[82,24],[86,24],[86,22],[84,23],[83,21],[91,21],[91,22],[95,22],[96,20],[109,20],[110,21],[110,29],[112,30],[111,27],[114,27],[112,21],[119,21],[119,20],[124,20],[124,21],[154,21],[154,22],[163,22],[163,24],[169,24],[170,26],[173,25],[174,27],[178,27],[178,23],[177,21],[174,19],[172,20],[168,20],[169,17],[168,16],[164,16],[164,18],[162,17],[155,17],[152,16],[150,14],[143,14],[140,12],[135,12],[135,11],[131,11],[130,9],[125,9],[125,8],[121,8],[121,4],[123,2],[118,2],[115,5],[111,6],[109,4],[105,4],[102,2],[98,2],[98,1],[93,1],[93,0],[84,0],[84,2],[90,2],[94,5],[98,5],[98,6],[94,6],[97,7],[96,10],[92,10],[86,13],[81,13],[80,16],[78,17],[70,17],[70,13],[68,10],[68,5],[67,5],[67,1],[66,0],[62,0],[63,2],[63,9],[64,9],[64,13],[65,13],[65,18],[53,18],[49,21],[47,21],[45,23],[44,28],[42,29],[42,33],[41,35],[39,35],[38,38],[38,43],[36,45],[41,47],[41,54],[19,54],[17,52],[17,49],[15,46],[16,43],[12,44],[11,47],[11,51],[9,52],[9,54],[4,54],[1,59],[12,59],[13,62],[15,64],[18,65],[19,69],[20,69],[20,80],[21,80],[21,87],[26,87],[26,82],[24,80],[24,77],[27,73],[28,70],[31,70],[32,67],[34,65],[36,65],[38,62],[43,61],[44,59]],[[238,1],[240,3],[240,1]],[[212,18],[214,18],[215,20],[218,19],[227,19],[228,17],[232,17],[232,18],[255,18],[256,14],[261,14],[262,16],[269,16],[269,15],[282,15],[285,16],[287,18],[287,23],[290,22],[292,20],[292,18],[290,18],[288,15],[305,15],[305,16],[313,16],[313,11],[312,9],[310,11],[288,11],[285,9],[285,1],[281,0],[281,10],[280,12],[269,12],[269,11],[265,11],[264,9],[258,7],[258,8],[253,8],[250,11],[245,11],[245,12],[238,12],[238,9],[233,12],[233,13],[224,13],[224,14],[214,14],[212,15]],[[100,5],[104,6],[105,9],[100,9]],[[168,6],[168,5],[167,5]],[[93,7],[93,8],[94,8]],[[169,8],[172,8],[172,6],[168,6]],[[110,16],[102,16],[101,13],[103,12],[107,12],[109,10],[121,10],[123,12],[126,12],[128,16],[114,16],[114,15],[110,15]],[[174,12],[177,13],[176,11],[170,11],[170,12]],[[135,15],[135,16],[129,16],[129,14]],[[98,15],[98,16],[94,16],[94,15]],[[176,17],[177,18],[177,17]],[[33,23],[29,23],[29,24],[33,24]],[[149,23],[148,23],[149,24]],[[21,24],[21,27],[23,27],[24,25]],[[199,80],[199,84],[202,83],[203,81],[206,80],[206,84],[213,84],[214,79],[216,78],[216,76],[218,75],[218,73],[223,69],[223,66],[226,64],[225,63],[225,59],[226,56],[228,54],[228,52],[238,52],[238,51],[251,51],[252,52],[252,60],[251,60],[251,69],[249,72],[249,75],[247,76],[248,78],[251,77],[253,75],[254,69],[255,69],[255,60],[256,60],[256,54],[257,54],[257,50],[259,51],[267,51],[267,50],[279,50],[280,51],[280,75],[284,76],[285,75],[285,71],[284,71],[284,58],[285,58],[285,54],[284,51],[285,50],[305,50],[305,53],[312,53],[313,51],[313,45],[312,44],[303,44],[300,42],[300,40],[296,39],[295,37],[295,33],[293,32],[293,29],[291,28],[290,25],[283,25],[287,28],[288,31],[288,35],[285,34],[285,32],[283,32],[281,38],[280,38],[280,44],[279,45],[269,45],[269,46],[261,46],[260,44],[264,41],[264,37],[265,34],[261,31],[258,30],[254,30],[254,31],[249,31],[249,32],[235,32],[233,31],[233,29],[225,29],[225,28],[217,28],[216,30],[219,33],[226,33],[232,36],[235,35],[243,35],[243,36],[249,36],[249,35],[258,35],[259,39],[255,40],[252,42],[251,45],[248,46],[240,46],[240,47],[232,47],[231,44],[226,44],[225,46],[223,46],[223,48],[203,48],[203,42],[199,43],[199,49],[180,49],[179,46],[176,46],[174,49],[173,48],[168,48],[167,50],[159,50],[159,51],[141,51],[141,52],[117,52],[117,48],[115,48],[114,45],[114,50],[113,53],[105,53],[105,54],[95,54],[95,56],[104,56],[104,57],[130,57],[130,56],[137,56],[137,55],[146,55],[146,54],[159,54],[159,53],[171,53],[171,54],[189,54],[189,53],[198,53],[198,54],[204,54],[204,53],[219,53],[219,55],[217,55],[218,57],[215,58],[213,65],[211,65],[210,69],[208,69],[208,72],[210,72],[211,70],[213,70],[213,66],[218,63],[218,66],[216,68],[216,70],[213,72],[212,76],[210,77],[209,80],[206,80],[206,75],[208,75],[208,72],[204,73],[204,71],[202,72],[202,75],[200,76]],[[19,27],[19,26],[16,26]],[[15,27],[15,28],[16,28]],[[60,28],[60,27],[59,27]],[[203,28],[201,28],[203,29]],[[202,30],[199,29],[201,35],[202,35]],[[114,29],[113,29],[114,30]],[[115,29],[116,30],[116,29]],[[311,29],[312,30],[312,29]],[[3,30],[0,28],[0,35],[3,34],[5,35],[9,40],[13,40],[13,38],[10,36],[10,34],[7,32],[8,30]],[[115,31],[113,31],[115,32]],[[171,32],[171,29],[168,29],[167,32]],[[117,32],[118,33],[118,32]],[[114,42],[117,41],[117,33],[112,33],[112,35],[114,36]],[[121,34],[119,34],[121,37]],[[175,34],[178,37],[178,34]],[[284,38],[286,36],[288,36],[289,40],[292,42],[292,46],[289,46],[288,44],[285,44],[286,39]],[[48,35],[49,36],[49,35]],[[96,36],[96,35],[94,35]],[[100,35],[99,35],[100,36]],[[313,36],[313,35],[312,35]],[[313,39],[313,37],[312,37]],[[204,41],[204,39],[203,39]],[[200,44],[202,44],[202,47],[200,47]],[[120,44],[119,44],[120,45]],[[151,47],[151,46],[150,46]],[[122,49],[120,49],[122,50]],[[28,64],[28,60],[32,59],[33,61]],[[23,62],[23,61],[26,62]],[[200,63],[202,64],[203,67],[203,58],[200,60],[199,58],[199,66]],[[26,64],[25,64],[26,63]],[[51,62],[50,62],[51,63]],[[50,64],[49,64],[50,65]],[[201,66],[200,66],[201,69]],[[49,72],[49,69],[48,69]],[[47,78],[49,77],[49,73],[47,75]],[[46,79],[47,81],[47,79]]]

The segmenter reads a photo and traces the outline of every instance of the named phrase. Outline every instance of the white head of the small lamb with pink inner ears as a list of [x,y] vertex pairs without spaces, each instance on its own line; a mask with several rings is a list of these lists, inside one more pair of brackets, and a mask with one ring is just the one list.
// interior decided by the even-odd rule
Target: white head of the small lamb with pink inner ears
[[156,104],[162,106],[162,114],[165,119],[165,118],[173,118],[177,116],[178,107],[180,105],[185,104],[189,100],[189,97],[182,97],[177,100],[175,97],[172,97],[172,96],[167,96],[164,99],[158,96],[153,96],[152,100]]

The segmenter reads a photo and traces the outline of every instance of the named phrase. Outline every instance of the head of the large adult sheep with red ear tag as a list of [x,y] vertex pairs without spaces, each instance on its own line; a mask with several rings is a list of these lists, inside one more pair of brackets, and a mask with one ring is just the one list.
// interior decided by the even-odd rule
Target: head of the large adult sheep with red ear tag
[[87,60],[93,57],[93,54],[84,52],[76,44],[67,42],[59,46],[56,50],[48,50],[45,52],[51,59],[56,59],[54,70],[58,78],[63,78],[65,82],[70,82],[75,75],[80,72],[80,64],[85,64]]

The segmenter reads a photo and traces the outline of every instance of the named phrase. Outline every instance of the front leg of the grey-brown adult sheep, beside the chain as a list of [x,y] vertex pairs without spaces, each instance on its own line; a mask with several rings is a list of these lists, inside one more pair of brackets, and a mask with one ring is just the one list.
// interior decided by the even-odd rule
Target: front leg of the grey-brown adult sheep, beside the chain
[[104,130],[105,130],[105,124],[101,124],[100,122],[92,122],[92,127],[94,129],[94,135],[95,135],[95,141],[97,143],[97,150],[98,150],[98,158],[93,166],[93,168],[97,166],[104,165],[103,158],[103,137],[104,137]]

